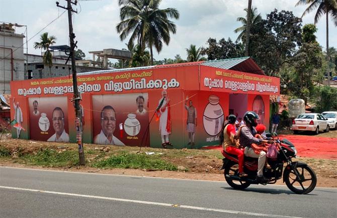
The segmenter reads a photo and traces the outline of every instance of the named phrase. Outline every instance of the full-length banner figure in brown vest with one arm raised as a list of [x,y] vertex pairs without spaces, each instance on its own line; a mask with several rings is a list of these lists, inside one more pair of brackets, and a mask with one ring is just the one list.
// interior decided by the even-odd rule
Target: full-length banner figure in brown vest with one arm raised
[[194,144],[194,137],[195,137],[195,130],[197,127],[197,109],[193,106],[192,100],[189,101],[189,106],[187,105],[187,101],[185,101],[185,109],[187,110],[187,132],[189,133],[189,143],[191,148],[193,148]]

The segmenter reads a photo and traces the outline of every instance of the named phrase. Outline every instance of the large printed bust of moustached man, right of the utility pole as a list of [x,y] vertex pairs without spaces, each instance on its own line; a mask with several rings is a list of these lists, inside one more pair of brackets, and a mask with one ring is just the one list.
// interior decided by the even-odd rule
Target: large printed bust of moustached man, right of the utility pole
[[95,144],[120,146],[125,145],[113,135],[116,129],[116,112],[115,109],[110,105],[106,105],[102,109],[101,127],[101,133],[98,134],[94,139]]

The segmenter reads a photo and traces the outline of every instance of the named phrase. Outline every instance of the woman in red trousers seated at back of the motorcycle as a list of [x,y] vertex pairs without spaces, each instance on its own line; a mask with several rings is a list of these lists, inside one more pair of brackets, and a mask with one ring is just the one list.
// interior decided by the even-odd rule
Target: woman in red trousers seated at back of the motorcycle
[[236,117],[234,115],[229,115],[228,122],[222,127],[220,141],[222,143],[222,148],[224,151],[230,154],[237,155],[238,164],[239,164],[239,176],[247,176],[243,172],[243,158],[244,154],[238,145],[234,141],[235,136],[235,121]]

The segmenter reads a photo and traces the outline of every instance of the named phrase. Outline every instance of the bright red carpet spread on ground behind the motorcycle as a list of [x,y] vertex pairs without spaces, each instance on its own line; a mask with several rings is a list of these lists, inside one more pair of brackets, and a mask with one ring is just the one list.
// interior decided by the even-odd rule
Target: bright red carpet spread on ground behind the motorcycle
[[[279,135],[279,137],[293,143],[299,157],[337,159],[337,138],[300,135]],[[220,145],[204,148],[222,150]]]

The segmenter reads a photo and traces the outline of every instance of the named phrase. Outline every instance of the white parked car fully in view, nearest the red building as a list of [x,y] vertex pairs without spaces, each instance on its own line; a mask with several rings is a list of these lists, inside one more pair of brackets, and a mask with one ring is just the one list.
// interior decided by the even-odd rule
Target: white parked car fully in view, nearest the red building
[[318,134],[319,131],[329,132],[330,127],[328,121],[321,114],[300,114],[293,120],[292,130],[294,134],[299,131],[312,131]]

